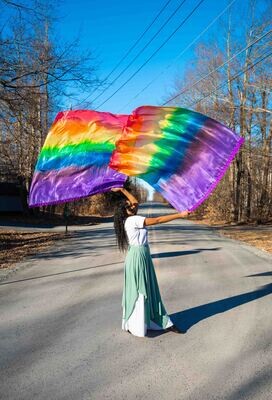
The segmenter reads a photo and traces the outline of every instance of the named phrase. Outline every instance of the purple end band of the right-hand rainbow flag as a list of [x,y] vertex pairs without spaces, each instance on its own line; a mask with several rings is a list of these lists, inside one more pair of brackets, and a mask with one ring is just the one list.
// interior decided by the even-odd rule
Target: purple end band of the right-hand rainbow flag
[[244,139],[208,119],[188,148],[179,169],[156,189],[177,210],[195,210],[216,188]]

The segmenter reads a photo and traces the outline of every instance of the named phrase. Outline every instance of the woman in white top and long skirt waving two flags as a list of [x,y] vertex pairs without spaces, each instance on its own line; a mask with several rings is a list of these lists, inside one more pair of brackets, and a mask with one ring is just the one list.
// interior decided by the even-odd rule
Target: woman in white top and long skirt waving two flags
[[154,218],[137,215],[138,201],[124,188],[114,188],[125,199],[115,209],[114,228],[118,247],[128,249],[125,259],[122,329],[135,336],[146,336],[147,329],[182,333],[164,308],[150,255],[147,226],[186,217],[187,211]]

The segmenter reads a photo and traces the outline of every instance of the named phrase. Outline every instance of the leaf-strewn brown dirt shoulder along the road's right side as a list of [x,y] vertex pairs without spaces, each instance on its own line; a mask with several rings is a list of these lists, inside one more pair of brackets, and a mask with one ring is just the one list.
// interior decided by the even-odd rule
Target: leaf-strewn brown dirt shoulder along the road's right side
[[214,223],[210,220],[195,220],[199,224],[210,226],[213,230],[220,235],[229,237],[231,239],[240,240],[258,249],[267,251],[272,254],[272,224],[256,225],[256,224],[243,224],[243,225],[230,225],[226,223]]

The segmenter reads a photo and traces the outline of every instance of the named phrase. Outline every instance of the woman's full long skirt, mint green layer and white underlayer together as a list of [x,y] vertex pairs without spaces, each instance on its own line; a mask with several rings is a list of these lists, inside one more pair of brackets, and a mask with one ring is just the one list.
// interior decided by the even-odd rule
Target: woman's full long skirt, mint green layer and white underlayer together
[[125,259],[122,329],[146,336],[147,329],[173,325],[163,305],[149,246],[129,246]]

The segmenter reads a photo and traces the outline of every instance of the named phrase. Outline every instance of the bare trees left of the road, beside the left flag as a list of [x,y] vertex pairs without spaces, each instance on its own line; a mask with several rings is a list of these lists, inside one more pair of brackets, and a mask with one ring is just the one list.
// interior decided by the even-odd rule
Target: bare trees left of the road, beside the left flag
[[28,191],[56,109],[74,91],[99,82],[94,57],[80,54],[78,39],[66,44],[54,40],[54,4],[2,3],[9,18],[0,30],[1,176],[6,179],[12,172]]

